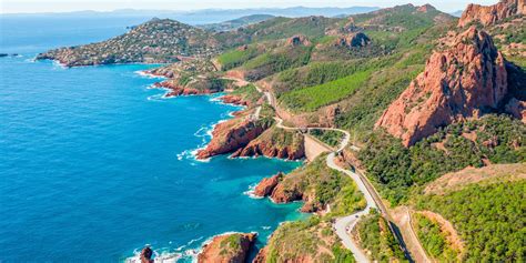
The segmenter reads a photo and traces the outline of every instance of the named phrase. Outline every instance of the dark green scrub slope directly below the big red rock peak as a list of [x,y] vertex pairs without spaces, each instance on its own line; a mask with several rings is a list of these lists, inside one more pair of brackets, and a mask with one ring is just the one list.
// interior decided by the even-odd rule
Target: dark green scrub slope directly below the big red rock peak
[[[466,166],[517,163],[526,158],[526,127],[506,115],[486,115],[446,127],[404,148],[381,131],[373,133],[358,158],[381,193],[393,204],[407,200],[413,186]],[[494,140],[498,138],[498,140]]]

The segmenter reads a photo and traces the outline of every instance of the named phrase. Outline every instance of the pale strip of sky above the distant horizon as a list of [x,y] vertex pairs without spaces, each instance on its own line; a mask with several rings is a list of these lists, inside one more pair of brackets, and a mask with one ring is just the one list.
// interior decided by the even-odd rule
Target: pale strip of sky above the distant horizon
[[443,11],[464,9],[468,3],[494,4],[497,0],[0,0],[2,13],[67,12],[78,10],[111,11],[115,9],[195,10],[208,8],[240,9],[262,7],[393,7],[431,3]]

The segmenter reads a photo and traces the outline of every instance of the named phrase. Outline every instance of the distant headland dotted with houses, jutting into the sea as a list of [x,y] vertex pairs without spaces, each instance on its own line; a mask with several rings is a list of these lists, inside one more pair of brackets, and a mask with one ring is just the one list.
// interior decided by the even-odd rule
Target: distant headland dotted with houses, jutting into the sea
[[67,67],[112,63],[166,63],[184,57],[205,57],[221,43],[202,29],[170,19],[152,19],[113,39],[79,47],[60,48],[37,59],[58,60]]

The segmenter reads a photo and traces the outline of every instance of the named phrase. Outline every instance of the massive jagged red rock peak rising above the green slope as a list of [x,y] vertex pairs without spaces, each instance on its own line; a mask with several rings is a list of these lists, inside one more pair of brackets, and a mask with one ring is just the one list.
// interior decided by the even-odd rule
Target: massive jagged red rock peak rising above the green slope
[[507,92],[505,60],[492,38],[471,27],[444,51],[435,51],[425,70],[376,122],[404,145],[439,127],[495,110]]

